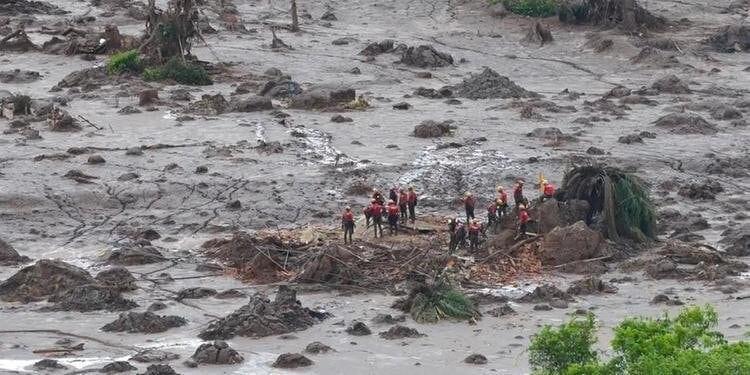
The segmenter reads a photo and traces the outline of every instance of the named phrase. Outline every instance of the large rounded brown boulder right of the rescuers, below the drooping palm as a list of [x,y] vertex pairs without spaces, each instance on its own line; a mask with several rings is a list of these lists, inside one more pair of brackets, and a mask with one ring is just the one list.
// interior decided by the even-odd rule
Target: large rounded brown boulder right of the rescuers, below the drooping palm
[[557,266],[595,258],[602,254],[605,246],[604,236],[589,228],[583,221],[567,227],[557,227],[542,241],[542,264]]

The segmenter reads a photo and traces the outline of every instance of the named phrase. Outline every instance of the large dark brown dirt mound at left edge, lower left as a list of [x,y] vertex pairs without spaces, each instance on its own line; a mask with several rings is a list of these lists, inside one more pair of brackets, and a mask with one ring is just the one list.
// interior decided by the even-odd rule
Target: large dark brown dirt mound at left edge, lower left
[[0,299],[8,302],[39,301],[94,282],[94,278],[81,268],[59,260],[42,259],[0,283]]

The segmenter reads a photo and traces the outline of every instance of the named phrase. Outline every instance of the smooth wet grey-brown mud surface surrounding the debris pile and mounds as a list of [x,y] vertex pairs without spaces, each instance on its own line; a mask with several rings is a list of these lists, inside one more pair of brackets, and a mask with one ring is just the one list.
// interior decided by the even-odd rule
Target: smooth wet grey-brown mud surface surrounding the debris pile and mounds
[[[143,29],[143,21],[134,19],[128,7],[108,8],[106,1],[100,6],[49,3],[69,13],[25,14],[23,18],[28,21],[31,40],[39,45],[51,37],[41,32],[44,26],[84,14],[95,19],[77,27],[101,29],[115,24],[130,35]],[[427,336],[393,341],[377,335],[353,337],[344,330],[353,320],[369,324],[377,313],[396,314],[389,307],[396,297],[302,289],[299,298],[304,306],[325,309],[333,317],[293,333],[294,337],[229,340],[244,357],[242,364],[186,367],[183,361],[202,343],[197,334],[246,300],[175,301],[179,290],[203,286],[219,291],[239,288],[248,295],[273,293],[273,288],[242,284],[215,270],[195,271],[204,262],[200,245],[237,230],[335,226],[345,205],[359,210],[367,201],[358,192],[360,187],[413,184],[422,194],[420,212],[448,215],[458,213],[457,197],[467,190],[486,203],[481,199],[490,197],[496,185],[508,187],[517,177],[534,181],[543,172],[559,182],[573,163],[605,162],[646,180],[660,210],[681,213],[663,216],[666,223],[662,224],[669,230],[662,239],[674,235],[688,221],[685,218],[700,215],[705,224],[685,231],[719,249],[727,247],[719,242],[725,230],[747,226],[750,208],[746,123],[750,58],[747,53],[721,53],[704,43],[720,27],[746,22],[747,3],[648,1],[645,5],[651,12],[673,23],[659,32],[632,36],[618,30],[563,25],[550,18],[543,23],[551,29],[554,42],[538,47],[521,43],[530,27],[528,19],[493,17],[481,1],[299,1],[304,10],[302,31],[278,30],[277,36],[293,48],[281,50],[269,47],[269,25],[288,23],[287,2],[234,3],[247,31],[228,30],[229,24],[219,19],[215,7],[208,7],[204,15],[218,33],[204,35],[207,45],[193,46],[201,60],[228,66],[228,72],[212,86],[181,87],[134,79],[50,92],[68,74],[101,66],[106,57],[96,55],[90,60],[35,51],[0,52],[0,70],[41,75],[4,81],[0,90],[34,99],[62,97],[67,102],[62,108],[82,127],[77,132],[53,132],[45,122],[35,122],[30,128],[38,130],[41,139],[34,139],[28,132],[10,131],[11,122],[0,119],[0,127],[9,129],[0,135],[0,238],[33,260],[61,259],[94,275],[109,267],[104,264],[109,252],[138,233],[154,230],[160,238],[152,243],[169,261],[129,266],[139,289],[125,295],[140,305],[135,311],[163,301],[167,309],[159,314],[188,321],[163,333],[106,333],[100,327],[118,312],[42,312],[38,309],[47,303],[2,302],[0,371],[39,371],[31,365],[44,356],[33,351],[72,338],[85,347],[56,358],[68,366],[68,372],[100,368],[114,360],[127,360],[139,349],[158,348],[179,354],[180,359],[167,362],[184,374],[284,373],[287,370],[271,367],[279,354],[300,352],[308,343],[321,341],[336,352],[309,355],[315,362],[312,367],[292,371],[523,374],[529,371],[525,348],[541,324],[561,322],[578,308],[593,308],[603,327],[601,341],[606,342],[611,335],[608,328],[624,316],[657,316],[678,309],[649,303],[665,291],[685,302],[714,304],[722,317],[720,328],[730,339],[747,331],[750,321],[743,314],[749,307],[747,299],[735,299],[746,293],[743,275],[723,279],[718,287],[732,285],[734,289],[722,293],[716,283],[654,280],[641,271],[628,275],[612,271],[602,278],[630,276],[634,280],[617,284],[616,294],[577,297],[565,309],[536,311],[531,304],[514,304],[517,314],[484,316],[473,326],[421,325],[407,319],[405,325]],[[321,20],[329,10],[335,20]],[[13,18],[10,24],[20,20]],[[409,46],[430,44],[450,54],[454,63],[421,68],[395,63],[399,60],[395,53],[371,59],[359,55],[369,43],[385,39]],[[611,40],[611,47],[596,51],[601,39]],[[353,88],[371,106],[344,111],[290,109],[287,101],[274,99],[276,109],[289,115],[280,118],[270,110],[188,114],[186,102],[172,99],[171,93],[180,88],[191,94],[191,102],[203,94],[221,93],[229,99],[242,83],[256,92],[267,79],[258,77],[269,68],[278,68],[305,90]],[[352,73],[354,68],[359,74]],[[457,85],[484,68],[541,98],[449,100],[414,95],[419,87]],[[431,78],[424,78],[424,72]],[[653,85],[669,75],[677,76],[688,90],[679,84]],[[607,101],[599,101],[618,86],[632,93],[613,92]],[[138,94],[148,87],[159,89],[160,100],[139,106]],[[394,109],[400,102],[411,107]],[[139,108],[139,113],[119,113],[126,106]],[[705,123],[656,123],[683,111],[701,116]],[[331,121],[336,114],[352,121]],[[192,119],[182,117],[186,115]],[[441,138],[412,136],[414,127],[426,120],[452,120],[455,129]],[[558,128],[562,134],[527,136],[547,134],[534,132],[547,127]],[[274,142],[280,147],[258,147]],[[71,153],[71,148],[82,152]],[[141,152],[128,152],[133,148]],[[92,155],[105,162],[90,163]],[[81,179],[65,177],[71,170],[95,178],[81,183]],[[707,178],[723,188],[715,199],[693,199],[706,197],[689,191],[678,194],[681,186],[701,184]],[[10,277],[27,264],[31,263],[0,267],[0,278]],[[610,269],[617,266],[612,264]],[[164,272],[175,280],[154,281]],[[551,281],[564,289],[579,277],[552,270],[495,287],[512,294]],[[342,320],[344,325],[338,325]],[[374,333],[387,328],[370,326]],[[472,353],[487,356],[488,364],[462,363]],[[147,367],[130,362],[139,373]]]

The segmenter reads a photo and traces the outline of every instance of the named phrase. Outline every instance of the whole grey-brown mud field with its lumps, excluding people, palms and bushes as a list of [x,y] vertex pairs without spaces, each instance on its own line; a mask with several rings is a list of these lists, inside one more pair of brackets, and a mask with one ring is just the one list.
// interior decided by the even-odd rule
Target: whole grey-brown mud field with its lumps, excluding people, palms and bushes
[[[0,284],[0,373],[96,373],[128,361],[133,368],[120,364],[124,373],[152,375],[171,373],[158,363],[180,374],[526,374],[530,337],[586,311],[599,319],[605,343],[624,317],[658,316],[683,303],[713,304],[730,340],[750,327],[750,55],[743,52],[750,31],[744,42],[728,43],[733,53],[709,42],[725,26],[747,25],[747,1],[642,1],[669,22],[641,34],[542,19],[554,41],[540,46],[524,41],[535,20],[499,17],[483,1],[298,0],[301,31],[275,27],[286,44],[279,47],[271,28],[290,22],[287,1],[209,0],[200,7],[204,41],[192,53],[213,67],[210,86],[111,77],[102,73],[106,54],[51,52],[52,38],[106,25],[139,36],[140,2],[10,3],[0,6],[0,35],[24,25],[39,49],[0,49],[0,98],[32,99],[30,115],[0,117],[0,279],[10,280]],[[421,45],[433,50],[404,52]],[[81,71],[88,73],[71,76]],[[273,89],[279,95],[258,99],[269,81],[282,82]],[[149,89],[158,98],[142,100]],[[301,93],[290,99],[289,91]],[[233,109],[202,99],[216,94]],[[346,100],[336,103],[336,95]],[[341,105],[360,96],[369,106]],[[77,129],[50,129],[41,113],[51,105]],[[420,124],[430,137],[415,136]],[[543,264],[518,267],[512,277],[492,267],[499,273],[479,272],[480,257],[462,251],[471,270],[463,288],[481,297],[481,319],[373,322],[402,314],[391,305],[407,258],[388,251],[411,246],[409,262],[422,259],[417,248],[445,251],[439,223],[461,214],[465,191],[485,207],[497,185],[534,182],[540,172],[559,183],[572,165],[593,163],[647,182],[659,241],[638,249],[607,244],[616,250],[575,272]],[[387,192],[394,184],[420,193],[416,225],[378,242],[358,221],[354,244],[341,250],[351,253],[348,263],[360,261],[356,275],[378,282],[340,275],[300,282],[312,255],[299,249],[340,242],[332,229],[343,207],[358,214],[373,187]],[[532,184],[527,190],[536,196]],[[273,274],[209,254],[237,232],[277,236],[246,240],[266,249],[256,249],[263,256],[253,267]],[[420,236],[422,243],[410,242]],[[9,248],[20,256],[8,256]],[[300,254],[280,250],[289,248]],[[372,259],[382,254],[399,264],[379,269]],[[44,259],[60,262],[36,263]],[[36,273],[13,284],[35,264]],[[116,266],[126,270],[96,276]],[[387,285],[393,275],[401,279]],[[594,276],[616,291],[568,290]],[[105,279],[117,288],[102,286]],[[293,296],[274,302],[287,284],[302,307]],[[572,296],[523,297],[544,284]],[[259,317],[258,327],[246,327],[256,337],[212,331],[257,304],[294,321]],[[500,307],[515,313],[499,314]],[[131,316],[116,327],[120,314],[147,309],[163,321]],[[356,321],[372,334],[348,332]],[[379,335],[394,324],[425,336]],[[196,349],[215,339],[236,353],[212,347],[203,357],[224,364],[199,363]],[[305,352],[313,342],[333,350]],[[313,364],[273,367],[283,353],[303,353]],[[464,363],[473,353],[487,363]],[[244,360],[233,363],[237,355]],[[45,358],[64,368],[34,367]]]

